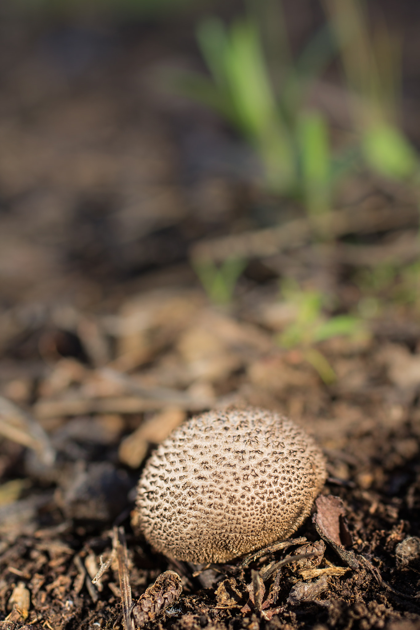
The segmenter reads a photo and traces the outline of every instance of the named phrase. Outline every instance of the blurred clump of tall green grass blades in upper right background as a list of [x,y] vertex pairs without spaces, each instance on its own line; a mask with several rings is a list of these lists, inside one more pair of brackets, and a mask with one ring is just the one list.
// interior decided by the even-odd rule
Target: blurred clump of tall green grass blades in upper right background
[[[370,26],[361,0],[323,4],[326,25],[296,59],[280,1],[248,3],[248,16],[229,28],[218,18],[201,21],[197,40],[212,79],[192,73],[178,79],[185,95],[212,107],[251,142],[261,158],[266,188],[304,198],[309,215],[331,208],[337,162],[347,167],[341,176],[364,166],[393,180],[419,179],[416,151],[398,125],[397,37],[384,22]],[[276,38],[268,37],[273,23]],[[358,137],[334,156],[326,115],[308,111],[308,93],[337,58]],[[349,151],[358,159],[346,160]]]

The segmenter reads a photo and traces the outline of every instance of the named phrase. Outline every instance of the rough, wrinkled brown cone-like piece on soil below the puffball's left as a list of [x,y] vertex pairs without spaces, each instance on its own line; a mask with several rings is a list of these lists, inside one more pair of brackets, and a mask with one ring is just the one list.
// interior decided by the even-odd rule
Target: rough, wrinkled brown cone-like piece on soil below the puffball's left
[[174,604],[182,593],[182,581],[175,571],[165,571],[156,582],[146,588],[140,599],[132,605],[130,617],[135,627],[142,627],[153,621],[164,610]]

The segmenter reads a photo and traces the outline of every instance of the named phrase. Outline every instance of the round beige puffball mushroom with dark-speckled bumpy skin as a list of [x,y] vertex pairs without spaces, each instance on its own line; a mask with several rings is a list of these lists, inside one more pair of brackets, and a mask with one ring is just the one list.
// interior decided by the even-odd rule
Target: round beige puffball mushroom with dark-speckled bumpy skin
[[288,418],[253,407],[209,411],[150,456],[133,527],[168,558],[226,562],[290,536],[325,480],[321,450]]

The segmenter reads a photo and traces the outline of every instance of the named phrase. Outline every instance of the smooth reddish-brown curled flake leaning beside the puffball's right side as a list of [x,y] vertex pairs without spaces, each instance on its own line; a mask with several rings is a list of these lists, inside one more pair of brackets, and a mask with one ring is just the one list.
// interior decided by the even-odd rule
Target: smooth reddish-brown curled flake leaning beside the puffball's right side
[[319,496],[315,501],[317,511],[312,517],[319,536],[326,541],[339,557],[352,569],[358,569],[355,553],[346,546],[353,541],[346,522],[346,509],[338,496]]

